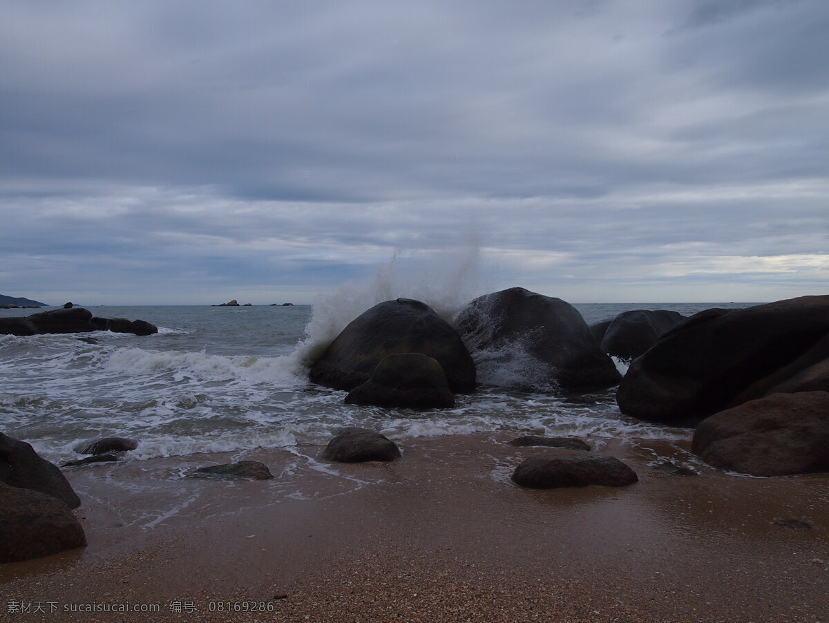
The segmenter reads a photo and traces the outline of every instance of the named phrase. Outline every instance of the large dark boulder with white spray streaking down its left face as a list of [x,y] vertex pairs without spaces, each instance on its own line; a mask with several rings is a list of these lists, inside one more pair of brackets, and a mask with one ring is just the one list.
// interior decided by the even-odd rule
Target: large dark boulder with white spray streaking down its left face
[[476,298],[457,326],[482,382],[526,391],[595,391],[621,378],[570,303],[523,287]]

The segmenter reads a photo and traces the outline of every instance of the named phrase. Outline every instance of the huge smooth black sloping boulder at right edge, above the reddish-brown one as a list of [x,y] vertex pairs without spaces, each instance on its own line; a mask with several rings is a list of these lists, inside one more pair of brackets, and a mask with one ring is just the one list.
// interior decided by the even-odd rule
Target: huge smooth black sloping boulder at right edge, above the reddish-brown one
[[817,374],[827,335],[829,296],[706,310],[633,360],[617,403],[635,418],[692,426],[797,374],[808,376],[812,366],[818,365],[812,369]]

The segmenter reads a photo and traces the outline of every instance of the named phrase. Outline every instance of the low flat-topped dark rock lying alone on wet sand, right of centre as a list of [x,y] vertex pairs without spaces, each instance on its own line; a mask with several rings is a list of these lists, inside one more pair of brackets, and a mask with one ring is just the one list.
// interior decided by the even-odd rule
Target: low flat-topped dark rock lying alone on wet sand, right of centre
[[516,485],[532,489],[589,485],[627,486],[638,481],[636,472],[613,456],[539,455],[525,459],[512,474]]

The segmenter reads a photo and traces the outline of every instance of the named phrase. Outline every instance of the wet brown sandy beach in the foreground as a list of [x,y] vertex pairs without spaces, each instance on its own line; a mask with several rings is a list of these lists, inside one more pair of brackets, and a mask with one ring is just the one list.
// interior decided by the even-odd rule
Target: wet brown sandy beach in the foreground
[[[390,464],[300,447],[66,469],[89,545],[0,566],[0,621],[829,622],[829,475],[588,439],[639,482],[522,490],[523,458],[569,451],[514,436],[408,440]],[[276,478],[182,477],[241,459]]]

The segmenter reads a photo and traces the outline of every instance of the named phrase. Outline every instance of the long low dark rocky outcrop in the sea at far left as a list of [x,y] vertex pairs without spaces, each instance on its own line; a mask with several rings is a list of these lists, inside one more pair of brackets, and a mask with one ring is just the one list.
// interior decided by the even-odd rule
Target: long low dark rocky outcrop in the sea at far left
[[0,319],[0,335],[34,336],[46,333],[90,333],[107,330],[133,333],[136,336],[158,333],[158,327],[147,321],[93,317],[92,312],[83,307],[63,307],[32,314],[26,318]]

